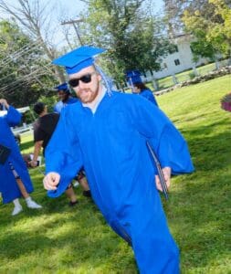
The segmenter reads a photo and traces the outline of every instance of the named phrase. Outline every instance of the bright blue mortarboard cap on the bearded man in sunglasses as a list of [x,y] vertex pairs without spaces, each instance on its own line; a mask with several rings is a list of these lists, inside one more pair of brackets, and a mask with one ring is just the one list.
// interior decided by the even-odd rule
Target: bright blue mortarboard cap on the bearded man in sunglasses
[[87,68],[94,63],[94,56],[104,52],[100,47],[82,46],[53,60],[53,64],[66,68],[68,74],[77,73],[82,68]]

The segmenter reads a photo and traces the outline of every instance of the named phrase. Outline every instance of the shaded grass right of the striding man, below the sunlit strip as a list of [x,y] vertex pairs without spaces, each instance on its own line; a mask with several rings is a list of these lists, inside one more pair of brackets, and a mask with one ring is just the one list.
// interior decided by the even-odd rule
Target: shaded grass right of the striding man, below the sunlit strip
[[[221,123],[224,131],[216,132]],[[173,193],[170,201],[164,202],[173,236],[181,249],[182,272],[227,273],[231,226],[230,121],[212,122],[183,133],[195,172],[173,177]]]

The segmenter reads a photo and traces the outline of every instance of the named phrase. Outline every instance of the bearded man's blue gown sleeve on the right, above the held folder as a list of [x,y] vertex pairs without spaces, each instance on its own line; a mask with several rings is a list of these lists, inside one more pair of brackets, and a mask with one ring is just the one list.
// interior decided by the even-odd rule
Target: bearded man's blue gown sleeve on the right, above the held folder
[[133,124],[145,140],[152,144],[162,167],[171,167],[172,174],[193,172],[194,165],[187,142],[173,122],[150,101],[141,97],[135,100],[137,108],[132,111]]

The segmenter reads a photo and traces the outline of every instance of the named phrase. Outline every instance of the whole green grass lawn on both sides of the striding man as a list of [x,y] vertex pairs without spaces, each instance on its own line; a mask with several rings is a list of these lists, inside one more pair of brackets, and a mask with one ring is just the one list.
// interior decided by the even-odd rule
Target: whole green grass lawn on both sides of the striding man
[[[182,273],[231,273],[231,112],[220,99],[231,91],[230,76],[158,96],[161,109],[188,142],[194,174],[173,177],[163,200],[181,250]],[[23,152],[32,152],[32,137]],[[89,198],[77,189],[79,205],[65,195],[47,198],[42,174],[30,171],[41,210],[10,216],[0,205],[0,273],[138,273],[131,248],[114,234]]]

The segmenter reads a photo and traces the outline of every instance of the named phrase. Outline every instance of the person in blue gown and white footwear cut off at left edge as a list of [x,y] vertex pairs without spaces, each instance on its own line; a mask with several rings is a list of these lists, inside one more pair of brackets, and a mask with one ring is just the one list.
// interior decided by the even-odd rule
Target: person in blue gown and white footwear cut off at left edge
[[4,115],[0,117],[0,144],[10,149],[5,163],[0,163],[0,192],[4,204],[14,203],[12,216],[15,216],[23,210],[18,200],[21,196],[25,198],[26,205],[30,208],[41,208],[42,206],[33,201],[29,195],[34,191],[33,184],[15,136],[10,129],[21,121],[21,114],[5,99],[0,99],[0,104],[5,109]]

